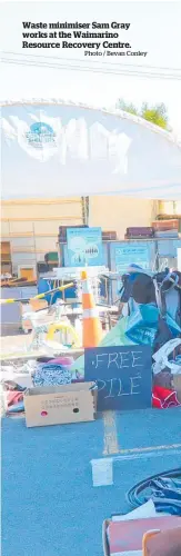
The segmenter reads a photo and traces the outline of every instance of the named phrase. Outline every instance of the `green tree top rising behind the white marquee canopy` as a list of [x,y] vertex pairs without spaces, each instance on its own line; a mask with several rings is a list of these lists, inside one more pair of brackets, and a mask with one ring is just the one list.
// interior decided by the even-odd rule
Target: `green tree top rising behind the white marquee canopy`
[[119,99],[117,108],[134,116],[140,116],[144,120],[148,120],[162,129],[168,129],[168,111],[163,102],[154,106],[149,106],[147,102],[143,102],[141,110],[139,110],[134,107],[134,105]]

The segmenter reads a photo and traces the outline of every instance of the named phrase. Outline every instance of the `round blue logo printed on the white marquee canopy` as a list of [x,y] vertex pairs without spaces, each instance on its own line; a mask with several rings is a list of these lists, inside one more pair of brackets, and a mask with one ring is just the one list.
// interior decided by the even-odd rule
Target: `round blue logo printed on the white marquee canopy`
[[54,147],[56,145],[56,133],[51,126],[44,122],[32,123],[26,137],[29,145],[36,149]]

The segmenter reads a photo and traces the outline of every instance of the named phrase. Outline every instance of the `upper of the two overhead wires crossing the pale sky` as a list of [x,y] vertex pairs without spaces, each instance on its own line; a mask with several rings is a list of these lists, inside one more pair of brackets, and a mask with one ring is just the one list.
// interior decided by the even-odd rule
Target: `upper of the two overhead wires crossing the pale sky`
[[[43,56],[43,54],[24,54],[22,52],[13,52],[13,51],[8,51],[8,50],[2,50],[2,54],[13,54],[13,56],[24,56],[27,58],[30,58],[31,57],[37,57],[38,58],[44,58],[46,60],[58,60],[58,61],[64,61],[64,62],[69,62],[69,61],[73,61],[73,62],[83,62],[83,63],[87,63],[86,60],[81,60],[81,58],[62,58],[62,57],[59,57],[59,56]],[[90,63],[100,63],[99,60],[89,60]],[[115,67],[119,67],[119,63],[115,63],[115,62],[112,62],[111,61],[111,64],[109,62],[103,62],[103,66],[115,66]],[[120,67],[122,68],[135,68],[135,66],[133,63],[121,63]],[[169,68],[169,67],[160,67],[160,66],[144,66],[144,64],[139,64],[137,63],[137,68],[143,68],[143,69],[155,69],[155,70],[171,70],[171,71],[181,71],[181,68]]]

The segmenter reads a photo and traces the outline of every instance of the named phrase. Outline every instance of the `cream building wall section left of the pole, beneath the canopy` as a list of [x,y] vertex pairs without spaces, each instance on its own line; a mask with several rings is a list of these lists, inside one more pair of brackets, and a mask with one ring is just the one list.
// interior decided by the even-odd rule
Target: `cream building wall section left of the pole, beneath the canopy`
[[44,260],[58,249],[59,226],[81,225],[81,197],[70,199],[28,199],[2,201],[2,241],[10,240],[12,270]]

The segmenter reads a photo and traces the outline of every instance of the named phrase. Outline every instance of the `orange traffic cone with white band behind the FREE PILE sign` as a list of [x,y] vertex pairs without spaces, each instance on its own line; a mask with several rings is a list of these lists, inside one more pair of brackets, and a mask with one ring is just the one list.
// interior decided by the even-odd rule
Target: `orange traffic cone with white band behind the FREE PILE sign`
[[93,348],[102,339],[102,328],[99,320],[99,311],[95,307],[92,289],[86,270],[81,272],[82,279],[82,340],[84,348]]

